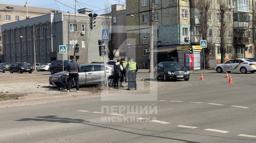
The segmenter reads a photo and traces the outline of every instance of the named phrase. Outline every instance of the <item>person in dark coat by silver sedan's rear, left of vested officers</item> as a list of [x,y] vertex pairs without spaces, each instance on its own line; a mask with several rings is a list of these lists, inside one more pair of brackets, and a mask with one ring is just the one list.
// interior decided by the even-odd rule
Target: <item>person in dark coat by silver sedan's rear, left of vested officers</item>
[[117,60],[117,62],[114,64],[114,81],[113,81],[113,87],[117,84],[117,88],[123,87],[122,83],[120,82],[120,79],[122,77],[122,70],[123,67],[120,64],[120,60]]

